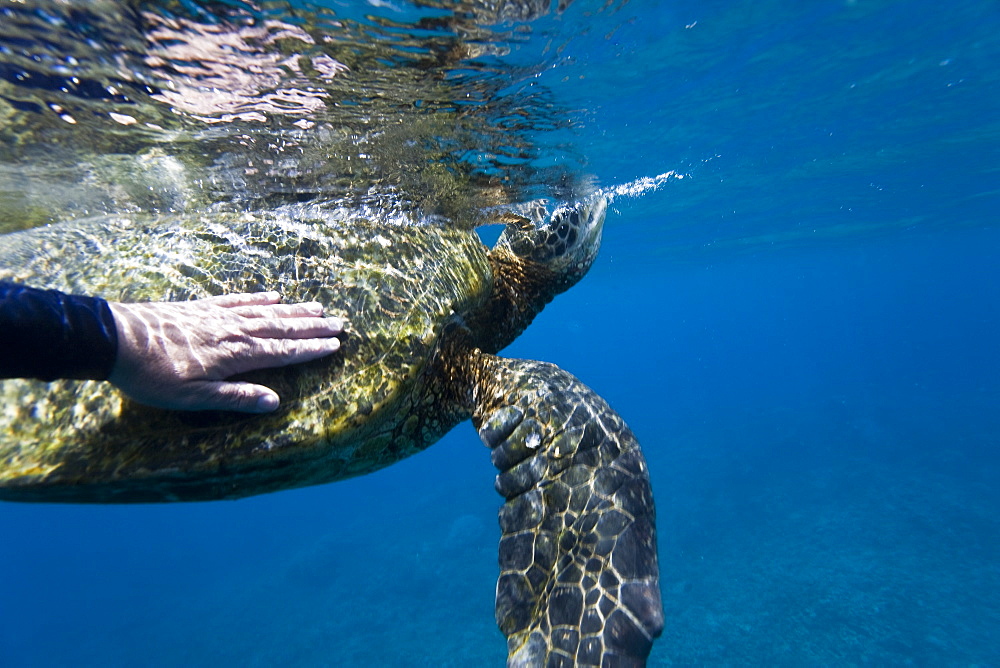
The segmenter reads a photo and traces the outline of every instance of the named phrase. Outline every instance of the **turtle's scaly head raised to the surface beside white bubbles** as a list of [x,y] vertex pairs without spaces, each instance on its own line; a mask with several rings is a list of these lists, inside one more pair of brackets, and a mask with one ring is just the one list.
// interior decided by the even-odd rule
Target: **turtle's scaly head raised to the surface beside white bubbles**
[[583,278],[597,257],[607,210],[607,198],[598,195],[560,206],[540,224],[521,218],[507,224],[496,250],[548,274],[553,294],[562,292]]

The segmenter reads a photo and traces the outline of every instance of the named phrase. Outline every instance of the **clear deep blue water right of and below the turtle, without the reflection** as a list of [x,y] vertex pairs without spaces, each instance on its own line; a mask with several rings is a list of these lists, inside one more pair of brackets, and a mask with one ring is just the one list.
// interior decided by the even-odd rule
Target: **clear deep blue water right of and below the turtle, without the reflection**
[[[505,354],[643,445],[650,664],[1000,665],[996,4],[601,8],[510,56],[558,45],[537,79],[578,110],[537,160],[683,178],[616,200]],[[238,502],[4,505],[0,665],[503,665],[493,476],[462,425]]]

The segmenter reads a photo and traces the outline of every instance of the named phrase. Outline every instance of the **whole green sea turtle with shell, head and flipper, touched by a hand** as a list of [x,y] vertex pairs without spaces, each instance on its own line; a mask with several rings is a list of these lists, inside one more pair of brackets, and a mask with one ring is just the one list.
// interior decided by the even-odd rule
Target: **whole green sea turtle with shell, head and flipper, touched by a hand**
[[248,374],[274,414],[185,413],[107,383],[0,383],[0,498],[231,499],[360,475],[471,418],[500,470],[509,665],[642,665],[663,626],[639,444],[591,389],[509,344],[590,267],[607,202],[473,231],[286,208],[110,216],[0,237],[0,278],[115,301],[280,286],[350,327],[341,354]]

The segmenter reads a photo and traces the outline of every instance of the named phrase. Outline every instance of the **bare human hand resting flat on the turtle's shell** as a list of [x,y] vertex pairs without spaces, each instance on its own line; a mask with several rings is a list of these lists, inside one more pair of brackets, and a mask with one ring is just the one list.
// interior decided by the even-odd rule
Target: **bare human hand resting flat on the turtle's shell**
[[274,390],[227,381],[307,362],[340,347],[339,318],[317,303],[281,304],[277,292],[187,302],[110,303],[118,356],[108,380],[139,403],[183,410],[268,413]]

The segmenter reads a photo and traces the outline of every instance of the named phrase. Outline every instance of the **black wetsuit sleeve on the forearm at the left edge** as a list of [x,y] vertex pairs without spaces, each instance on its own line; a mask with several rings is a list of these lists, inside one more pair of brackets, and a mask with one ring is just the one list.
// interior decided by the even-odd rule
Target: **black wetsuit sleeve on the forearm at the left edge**
[[117,354],[103,299],[0,281],[0,378],[106,380]]

